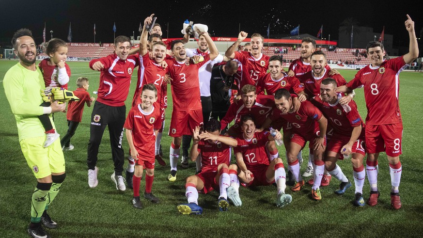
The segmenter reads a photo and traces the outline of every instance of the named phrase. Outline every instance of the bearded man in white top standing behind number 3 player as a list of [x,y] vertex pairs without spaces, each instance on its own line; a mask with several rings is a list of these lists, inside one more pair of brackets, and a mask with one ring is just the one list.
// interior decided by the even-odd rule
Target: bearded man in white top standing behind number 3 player
[[[208,33],[207,33],[208,34]],[[210,34],[209,34],[210,36]],[[207,41],[204,38],[204,35],[200,35],[197,41],[198,48],[196,49],[186,49],[187,57],[193,57],[195,55],[198,56],[206,56],[210,53],[208,50]],[[212,111],[212,101],[210,95],[210,79],[211,79],[211,71],[213,69],[213,65],[216,63],[220,63],[223,61],[223,56],[218,55],[216,59],[214,59],[211,63],[208,63],[207,66],[201,68],[198,71],[198,79],[200,80],[200,96],[201,96],[201,106],[203,110],[203,122],[204,125],[208,122],[210,118],[210,114]],[[188,168],[188,149],[189,145],[191,144],[191,136],[184,135],[182,136],[182,168]],[[197,172],[201,170],[201,163],[200,158],[195,161],[197,165]]]

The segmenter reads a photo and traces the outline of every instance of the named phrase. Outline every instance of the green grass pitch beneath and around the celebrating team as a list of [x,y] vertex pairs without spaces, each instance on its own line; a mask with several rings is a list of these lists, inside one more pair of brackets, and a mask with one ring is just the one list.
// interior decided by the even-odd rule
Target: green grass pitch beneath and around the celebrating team
[[[6,71],[17,61],[0,61],[0,80]],[[76,89],[76,80],[84,76],[90,79],[90,94],[97,91],[100,73],[89,69],[88,63],[68,62],[72,76],[69,89]],[[347,81],[357,73],[355,70],[340,70]],[[137,73],[133,73],[131,89],[126,100],[129,110]],[[400,157],[403,173],[400,195],[403,207],[394,211],[390,204],[391,179],[386,154],[379,157],[378,186],[381,192],[379,204],[375,207],[358,208],[352,205],[354,186],[342,196],[334,194],[339,181],[333,178],[329,187],[321,188],[323,200],[311,199],[311,186],[292,194],[289,206],[275,206],[276,187],[240,188],[242,206],[230,206],[229,212],[219,212],[218,193],[200,194],[199,205],[204,208],[201,216],[179,214],[176,206],[186,203],[185,178],[195,174],[195,163],[189,169],[178,165],[177,180],[169,182],[169,146],[167,136],[172,114],[172,97],[168,88],[169,107],[166,111],[166,128],[162,139],[163,158],[167,166],[157,164],[153,192],[161,199],[158,205],[142,197],[145,181],[141,181],[141,202],[144,209],[132,207],[132,190],[119,192],[110,179],[113,162],[110,153],[109,133],[103,135],[103,143],[98,154],[98,186],[90,189],[87,184],[87,143],[90,136],[92,108],[85,107],[82,123],[79,124],[71,143],[73,151],[65,152],[66,180],[59,196],[50,206],[49,214],[57,229],[48,229],[53,237],[186,237],[186,236],[319,236],[319,237],[386,237],[421,236],[423,225],[422,175],[422,123],[423,96],[422,73],[403,72],[400,75],[400,107],[404,121],[403,155]],[[362,89],[356,90],[356,102],[362,118],[366,108]],[[96,95],[94,95],[96,97]],[[26,237],[26,227],[30,221],[30,200],[36,181],[28,167],[18,143],[16,121],[0,84],[0,159],[2,172],[0,184],[0,237]],[[67,131],[66,115],[55,113],[58,132],[64,136]],[[128,145],[124,136],[125,154]],[[286,166],[285,152],[278,146]],[[305,150],[307,151],[307,150]],[[303,152],[303,172],[307,166],[308,153]],[[353,183],[352,166],[349,159],[339,161],[345,175]],[[126,166],[126,162],[125,162]],[[369,183],[366,178],[364,198],[369,196]]]

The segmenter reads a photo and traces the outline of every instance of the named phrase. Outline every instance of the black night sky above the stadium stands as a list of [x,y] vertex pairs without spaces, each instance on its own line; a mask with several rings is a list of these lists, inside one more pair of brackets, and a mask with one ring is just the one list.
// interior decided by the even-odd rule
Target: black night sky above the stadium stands
[[[163,37],[182,37],[185,19],[208,25],[214,36],[232,36],[241,31],[266,35],[270,24],[270,38],[274,34],[289,33],[300,24],[300,34],[317,35],[323,24],[323,37],[338,39],[339,24],[347,17],[354,17],[360,26],[373,27],[385,34],[393,34],[393,45],[408,44],[404,21],[409,14],[415,21],[415,31],[420,37],[423,27],[423,4],[418,1],[403,5],[390,5],[380,1],[380,6],[369,1],[230,1],[230,0],[151,0],[151,1],[91,1],[91,0],[1,0],[0,45],[10,45],[13,33],[19,28],[29,28],[36,40],[43,39],[44,22],[47,24],[47,41],[53,37],[67,39],[69,22],[72,23],[72,42],[109,43],[113,41],[113,22],[117,35],[138,35],[140,22],[155,13],[161,24]],[[278,2],[278,3],[273,3]],[[309,3],[312,2],[312,3]],[[323,3],[325,2],[325,3]],[[376,2],[376,1],[370,1]],[[398,1],[396,1],[398,2]],[[264,4],[263,4],[264,3]],[[319,5],[320,4],[320,5]],[[364,7],[369,6],[369,7]]]

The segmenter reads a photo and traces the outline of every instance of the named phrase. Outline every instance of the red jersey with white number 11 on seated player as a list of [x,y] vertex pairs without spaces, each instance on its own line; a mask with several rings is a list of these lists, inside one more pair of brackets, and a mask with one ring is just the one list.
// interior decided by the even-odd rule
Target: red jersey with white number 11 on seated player
[[198,153],[201,156],[201,171],[217,171],[218,165],[231,162],[231,146],[224,143],[209,143],[201,140],[198,143]]

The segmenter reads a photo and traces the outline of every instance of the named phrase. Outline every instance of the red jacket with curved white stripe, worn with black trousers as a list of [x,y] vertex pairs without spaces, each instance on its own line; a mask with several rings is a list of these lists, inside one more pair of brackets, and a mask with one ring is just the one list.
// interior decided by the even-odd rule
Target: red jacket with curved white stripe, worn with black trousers
[[91,69],[97,61],[104,65],[100,73],[97,101],[112,107],[124,106],[129,93],[132,72],[138,66],[136,54],[129,55],[125,61],[120,60],[116,54],[94,59],[90,61]]

